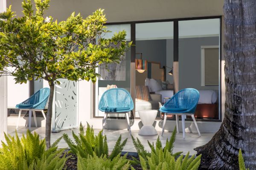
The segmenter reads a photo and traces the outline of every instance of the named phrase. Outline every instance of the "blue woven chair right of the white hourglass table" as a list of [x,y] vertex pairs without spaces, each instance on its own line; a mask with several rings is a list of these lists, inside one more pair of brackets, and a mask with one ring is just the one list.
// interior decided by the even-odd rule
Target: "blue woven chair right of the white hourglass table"
[[183,138],[185,138],[185,116],[189,115],[192,117],[195,127],[198,130],[199,136],[201,136],[198,125],[195,121],[195,109],[198,104],[199,100],[199,92],[194,88],[185,88],[181,91],[178,91],[177,94],[172,96],[171,99],[168,100],[160,109],[160,112],[164,113],[164,121],[163,121],[163,130],[162,136],[164,132],[164,126],[166,124],[166,118],[168,114],[176,115],[176,127],[177,133],[179,133],[179,115],[181,115],[182,120],[182,131],[183,131]]

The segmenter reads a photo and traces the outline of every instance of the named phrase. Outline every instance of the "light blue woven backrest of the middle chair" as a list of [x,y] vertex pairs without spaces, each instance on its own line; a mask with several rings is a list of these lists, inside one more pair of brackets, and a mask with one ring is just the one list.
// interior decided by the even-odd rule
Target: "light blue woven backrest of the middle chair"
[[134,103],[130,93],[123,88],[111,88],[102,94],[99,101],[99,108],[131,108]]

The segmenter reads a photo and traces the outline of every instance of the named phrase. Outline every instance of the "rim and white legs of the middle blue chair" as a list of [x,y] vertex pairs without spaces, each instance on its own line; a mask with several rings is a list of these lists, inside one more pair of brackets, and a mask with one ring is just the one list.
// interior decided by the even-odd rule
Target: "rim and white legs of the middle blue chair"
[[[106,112],[105,110],[102,110],[100,107],[101,107],[101,105],[106,104],[106,101],[103,101],[104,100],[103,98],[105,97],[106,93],[108,93],[109,91],[118,91],[118,90],[125,91],[125,93],[128,94],[128,97],[130,97],[131,103],[129,104],[130,105],[129,109],[128,110],[123,110],[123,111],[117,111],[117,112]],[[131,136],[131,124],[130,124],[130,119],[129,119],[129,113],[132,114],[133,109],[134,109],[134,103],[133,103],[133,100],[131,98],[131,95],[129,94],[129,92],[127,90],[125,90],[123,88],[111,88],[111,89],[108,89],[107,91],[105,91],[102,94],[102,97],[99,101],[99,110],[105,112],[104,117],[103,117],[103,121],[102,121],[102,135],[104,135],[105,125],[106,125],[106,121],[107,121],[107,117],[108,117],[109,113],[125,113],[125,117],[126,117],[126,120],[127,120],[127,130],[129,131],[130,136]]]

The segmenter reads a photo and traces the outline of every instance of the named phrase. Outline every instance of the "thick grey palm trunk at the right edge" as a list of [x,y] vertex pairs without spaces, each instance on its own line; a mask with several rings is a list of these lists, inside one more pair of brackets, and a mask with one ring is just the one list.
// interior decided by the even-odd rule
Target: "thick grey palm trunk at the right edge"
[[224,0],[225,116],[204,146],[201,169],[238,170],[241,148],[246,167],[256,170],[256,1]]

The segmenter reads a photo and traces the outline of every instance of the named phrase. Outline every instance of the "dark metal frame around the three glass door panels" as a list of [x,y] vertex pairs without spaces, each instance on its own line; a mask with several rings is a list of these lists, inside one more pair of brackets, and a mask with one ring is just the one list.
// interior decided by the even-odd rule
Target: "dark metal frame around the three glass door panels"
[[[196,121],[202,121],[202,122],[222,122],[222,101],[221,101],[221,84],[222,84],[222,77],[221,77],[221,50],[222,50],[222,43],[221,43],[221,37],[222,37],[222,16],[210,16],[210,17],[188,17],[188,18],[177,18],[177,19],[164,19],[164,20],[144,20],[144,21],[128,21],[128,22],[113,22],[113,23],[106,23],[105,25],[121,25],[121,24],[130,24],[131,25],[131,41],[132,46],[131,46],[131,80],[130,80],[130,88],[131,88],[131,97],[135,103],[135,55],[136,55],[136,24],[137,23],[159,23],[159,22],[173,22],[173,72],[174,72],[174,94],[177,93],[179,89],[178,85],[178,65],[175,65],[175,62],[178,63],[179,61],[179,21],[185,21],[185,20],[205,20],[205,19],[220,19],[220,34],[219,34],[219,92],[218,92],[218,97],[219,97],[219,119],[196,119]],[[177,74],[175,74],[177,73]],[[103,116],[95,116],[95,111],[97,108],[95,108],[95,85],[93,85],[93,118],[103,118]],[[135,104],[134,104],[134,119],[140,119],[138,117],[135,117]],[[170,120],[175,120],[174,118],[171,118]],[[162,119],[162,118],[157,118],[157,119]],[[192,119],[186,119],[186,120],[191,120]]]

